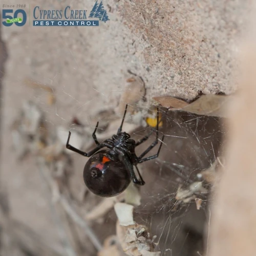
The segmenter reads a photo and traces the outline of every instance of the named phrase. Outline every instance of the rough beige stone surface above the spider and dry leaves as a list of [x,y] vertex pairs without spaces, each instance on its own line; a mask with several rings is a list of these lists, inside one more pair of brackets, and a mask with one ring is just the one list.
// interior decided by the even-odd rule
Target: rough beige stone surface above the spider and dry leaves
[[[76,1],[71,7],[91,10],[93,4]],[[30,8],[35,5],[67,4],[37,1]],[[15,73],[10,82],[23,86],[27,76],[52,84],[61,117],[70,108],[79,108],[78,114],[91,109],[95,100],[101,102],[95,110],[116,106],[128,69],[145,80],[148,99],[234,91],[230,78],[249,1],[105,1],[104,6],[111,20],[98,28],[4,28],[11,50],[7,72]]]

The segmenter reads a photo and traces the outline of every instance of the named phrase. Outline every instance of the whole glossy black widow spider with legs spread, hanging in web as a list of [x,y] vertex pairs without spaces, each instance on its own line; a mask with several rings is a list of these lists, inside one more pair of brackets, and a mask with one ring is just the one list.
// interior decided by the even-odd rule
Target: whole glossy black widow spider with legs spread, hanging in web
[[[137,164],[157,158],[162,147],[164,135],[157,154],[143,158],[158,143],[159,110],[157,109],[156,140],[139,157],[137,157],[135,147],[146,141],[153,130],[137,142],[130,139],[131,136],[129,134],[122,132],[126,111],[127,104],[117,134],[113,135],[112,139],[106,139],[102,143],[98,142],[95,135],[99,124],[99,122],[97,122],[92,134],[97,146],[94,150],[88,153],[80,151],[69,144],[71,135],[71,132],[69,132],[66,147],[82,156],[91,157],[84,166],[83,180],[94,194],[101,197],[113,197],[120,194],[130,184],[131,180],[133,180],[135,184],[144,185],[145,182],[139,173]],[[102,147],[108,147],[109,150],[99,151]],[[135,175],[133,165],[137,169],[140,180],[138,180]]]

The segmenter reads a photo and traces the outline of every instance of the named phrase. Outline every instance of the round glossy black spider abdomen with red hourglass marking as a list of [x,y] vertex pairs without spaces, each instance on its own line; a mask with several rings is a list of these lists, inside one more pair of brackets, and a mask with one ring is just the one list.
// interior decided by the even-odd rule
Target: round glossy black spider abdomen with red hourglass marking
[[109,151],[94,154],[83,169],[83,180],[92,193],[101,197],[114,197],[129,186],[129,170],[119,160],[113,160]]

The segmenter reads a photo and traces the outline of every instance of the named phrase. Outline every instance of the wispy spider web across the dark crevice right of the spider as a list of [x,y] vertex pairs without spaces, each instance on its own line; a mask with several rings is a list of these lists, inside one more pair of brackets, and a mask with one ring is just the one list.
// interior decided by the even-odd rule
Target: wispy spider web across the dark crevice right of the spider
[[221,155],[222,125],[215,117],[162,114],[166,122],[161,131],[165,134],[164,145],[159,159],[143,167],[143,174],[150,173],[152,180],[142,192],[144,204],[137,209],[138,218],[157,234],[162,255],[197,255],[206,248],[202,239],[207,233],[204,224],[210,196],[196,193],[203,200],[203,208],[198,211],[195,200],[184,203],[176,199],[176,193],[179,186],[187,188],[198,181],[198,174]]

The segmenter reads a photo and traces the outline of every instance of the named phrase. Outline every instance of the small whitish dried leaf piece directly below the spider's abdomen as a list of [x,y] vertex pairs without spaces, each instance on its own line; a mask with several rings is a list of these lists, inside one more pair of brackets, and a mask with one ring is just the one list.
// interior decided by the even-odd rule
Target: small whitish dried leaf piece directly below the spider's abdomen
[[125,203],[116,203],[115,212],[117,218],[122,226],[133,225],[135,222],[133,220],[133,206]]

